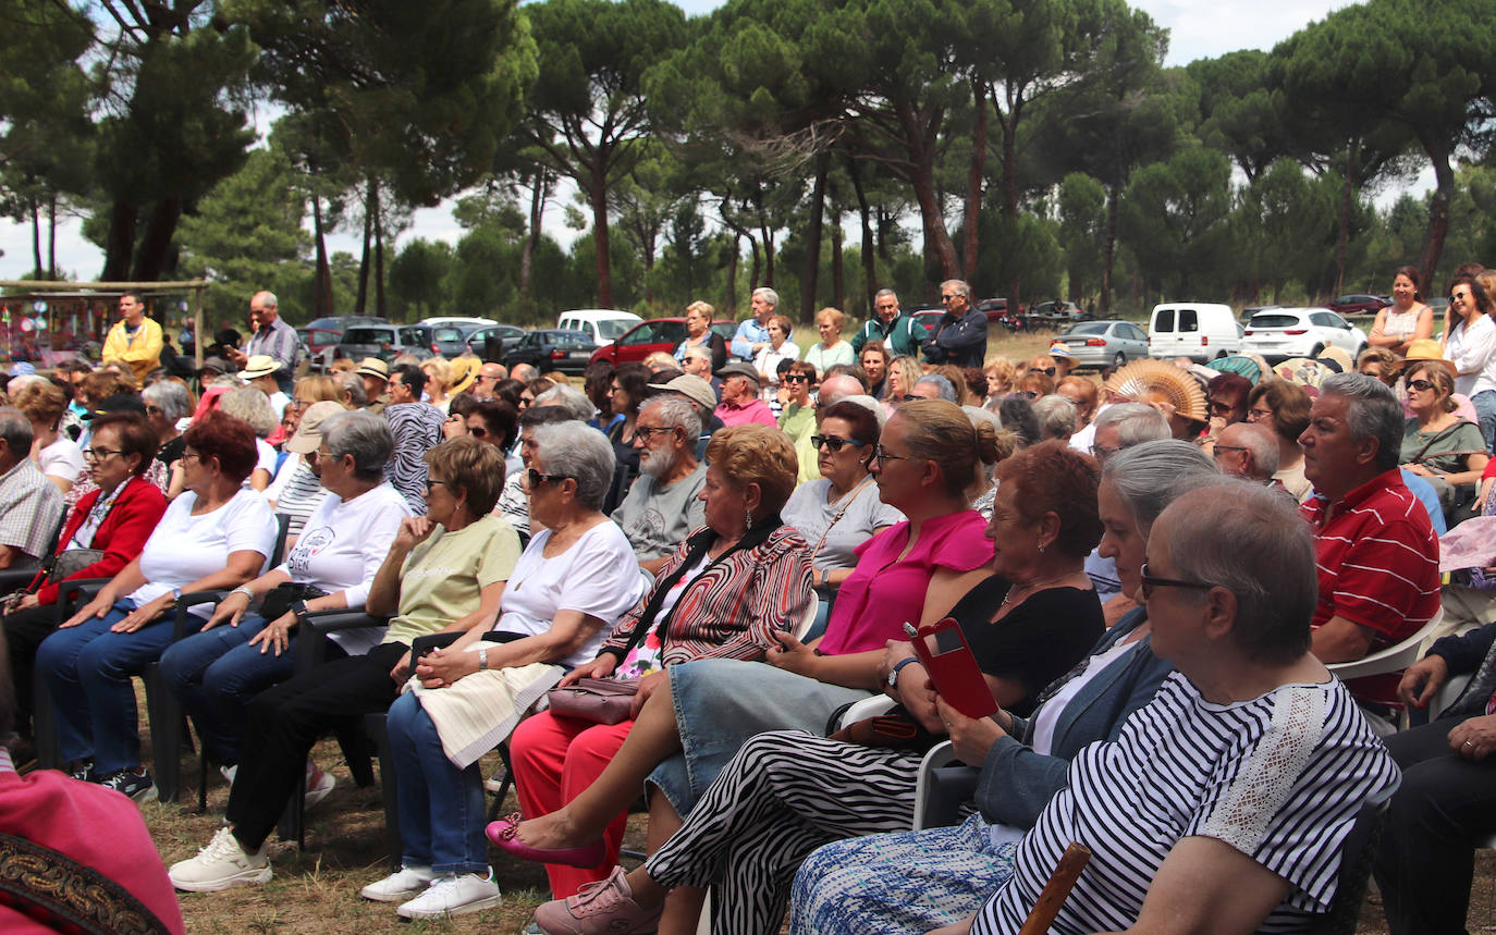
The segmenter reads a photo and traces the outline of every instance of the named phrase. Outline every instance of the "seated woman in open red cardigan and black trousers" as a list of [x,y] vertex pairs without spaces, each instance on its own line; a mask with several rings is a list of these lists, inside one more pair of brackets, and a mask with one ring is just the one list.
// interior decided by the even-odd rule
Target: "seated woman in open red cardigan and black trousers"
[[99,555],[66,579],[114,577],[139,557],[145,540],[166,512],[166,497],[144,477],[156,456],[156,432],[142,416],[115,413],[94,420],[84,458],[97,491],[85,494],[63,525],[57,552],[37,571],[31,585],[4,603],[4,639],[15,676],[16,729],[25,738],[31,727],[31,661],[36,648],[57,627],[58,582],[46,573],[54,562],[76,564],[67,552],[93,549]]

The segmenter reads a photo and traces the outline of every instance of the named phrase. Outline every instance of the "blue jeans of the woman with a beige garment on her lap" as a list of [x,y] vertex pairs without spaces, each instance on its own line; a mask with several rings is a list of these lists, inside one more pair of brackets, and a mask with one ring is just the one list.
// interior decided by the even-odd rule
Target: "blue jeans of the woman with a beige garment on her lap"
[[386,727],[395,758],[405,866],[429,866],[438,874],[486,874],[483,773],[477,763],[458,769],[447,760],[437,726],[414,694],[395,699]]

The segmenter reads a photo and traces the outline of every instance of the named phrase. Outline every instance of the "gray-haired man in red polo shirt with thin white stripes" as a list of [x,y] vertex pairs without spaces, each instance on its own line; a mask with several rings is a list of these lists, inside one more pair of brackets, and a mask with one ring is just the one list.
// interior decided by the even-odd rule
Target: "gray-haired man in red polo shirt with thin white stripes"
[[[1319,603],[1313,654],[1345,663],[1403,640],[1439,609],[1439,540],[1402,482],[1403,414],[1385,384],[1336,374],[1319,386],[1299,437],[1315,495],[1303,507],[1315,534]],[[1352,679],[1363,702],[1397,700],[1399,675]]]

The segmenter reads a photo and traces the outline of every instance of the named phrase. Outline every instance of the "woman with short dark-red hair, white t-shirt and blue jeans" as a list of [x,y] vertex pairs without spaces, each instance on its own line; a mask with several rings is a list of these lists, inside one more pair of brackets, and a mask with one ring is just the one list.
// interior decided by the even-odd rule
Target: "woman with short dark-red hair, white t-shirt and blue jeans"
[[[242,489],[253,467],[254,432],[242,420],[209,413],[187,429],[183,495],[139,558],[37,649],[36,672],[57,709],[63,761],[76,778],[132,799],[151,793],[130,676],[171,643],[171,610],[183,592],[233,588],[265,565],[275,518],[263,497]],[[206,616],[206,609],[190,613]]]

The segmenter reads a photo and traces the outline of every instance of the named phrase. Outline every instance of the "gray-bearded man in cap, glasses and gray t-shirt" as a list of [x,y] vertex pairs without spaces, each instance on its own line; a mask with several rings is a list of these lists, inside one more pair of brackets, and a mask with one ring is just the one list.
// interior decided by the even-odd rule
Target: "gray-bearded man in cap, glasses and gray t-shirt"
[[702,417],[681,396],[645,402],[634,426],[639,477],[613,510],[639,567],[655,574],[685,537],[706,522],[702,486],[706,465],[696,458]]

